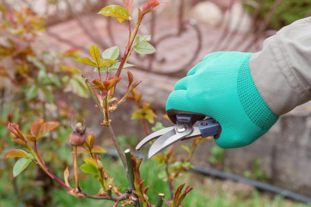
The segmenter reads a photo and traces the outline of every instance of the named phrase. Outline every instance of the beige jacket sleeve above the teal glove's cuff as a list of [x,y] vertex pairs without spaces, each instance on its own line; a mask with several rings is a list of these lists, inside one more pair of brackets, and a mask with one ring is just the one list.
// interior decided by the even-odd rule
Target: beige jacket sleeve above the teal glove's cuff
[[249,61],[254,83],[278,116],[311,99],[311,17],[283,27]]

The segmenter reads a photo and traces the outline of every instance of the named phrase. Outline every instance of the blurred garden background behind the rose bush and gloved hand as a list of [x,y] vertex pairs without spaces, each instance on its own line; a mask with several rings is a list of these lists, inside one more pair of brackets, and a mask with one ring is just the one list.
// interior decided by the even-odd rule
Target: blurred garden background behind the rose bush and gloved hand
[[[134,19],[138,7],[145,2],[134,0]],[[277,30],[311,16],[310,0],[169,2],[169,6],[147,15],[140,29],[140,34],[152,35],[151,44],[157,52],[133,54],[128,61],[137,65],[131,72],[135,79],[143,81],[137,90],[143,94],[143,100],[151,103],[157,115],[155,123],[160,121],[164,126],[172,125],[163,115],[174,84],[205,55],[216,51],[258,52],[263,40]],[[79,75],[93,79],[96,73],[73,61],[78,56],[88,57],[91,44],[101,51],[118,45],[123,53],[127,25],[96,14],[110,4],[123,5],[121,0],[0,0],[0,206],[112,205],[70,196],[34,165],[13,179],[16,160],[4,159],[8,151],[16,148],[7,123],[16,122],[27,130],[31,121],[39,117],[62,123],[52,139],[40,143],[44,159],[59,177],[67,165],[72,165],[71,146],[67,143],[71,133],[68,120],[72,115],[86,119],[88,131],[95,133],[98,144],[113,148],[108,133],[99,124],[101,115]],[[117,97],[122,97],[126,90],[126,83],[120,84],[124,90],[120,87]],[[123,149],[134,148],[145,137],[139,120],[130,120],[135,109],[128,101],[111,114]],[[191,161],[197,170],[183,173],[177,183],[188,182],[195,187],[183,205],[307,206],[299,200],[311,200],[310,111],[311,103],[295,108],[250,146],[223,150],[213,140],[203,142]],[[182,148],[176,148],[175,153],[183,159]],[[108,154],[104,156],[107,171],[120,183],[126,183],[123,169],[115,167],[122,168],[114,151]],[[154,160],[144,162],[142,177],[154,184],[150,184],[149,193],[168,194],[162,176],[164,169]],[[234,182],[237,180],[242,182]],[[258,187],[258,183],[251,182],[254,180],[271,185]],[[85,191],[97,193],[98,186],[91,178],[83,177],[81,185]],[[285,197],[290,194],[291,199],[275,193]]]

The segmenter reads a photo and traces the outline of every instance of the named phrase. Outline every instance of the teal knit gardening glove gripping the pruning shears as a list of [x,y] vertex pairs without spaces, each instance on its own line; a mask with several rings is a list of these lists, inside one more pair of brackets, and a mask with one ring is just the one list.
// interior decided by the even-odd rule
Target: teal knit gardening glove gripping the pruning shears
[[215,139],[222,148],[246,146],[266,133],[279,118],[260,96],[249,71],[252,53],[214,52],[179,80],[166,111],[202,114],[221,126]]

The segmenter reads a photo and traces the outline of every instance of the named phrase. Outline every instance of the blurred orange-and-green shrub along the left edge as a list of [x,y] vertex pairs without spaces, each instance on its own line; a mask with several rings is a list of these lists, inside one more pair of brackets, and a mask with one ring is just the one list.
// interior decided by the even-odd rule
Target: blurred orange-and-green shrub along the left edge
[[[17,138],[11,142],[11,139],[9,139],[11,134],[4,130],[8,123],[20,124],[23,126],[23,128],[20,128],[21,132],[26,132],[31,128],[30,124],[33,120],[40,119],[37,122],[37,126],[39,126],[41,119],[53,119],[64,125],[49,134],[52,138],[49,141],[50,143],[45,142],[45,140],[40,140],[40,143],[42,148],[47,151],[47,153],[44,153],[44,158],[48,159],[46,162],[48,164],[53,162],[54,166],[61,168],[63,163],[67,162],[67,158],[53,152],[53,150],[55,148],[63,149],[66,144],[55,138],[67,136],[70,133],[68,127],[66,127],[68,119],[72,115],[79,117],[85,112],[79,111],[79,104],[68,106],[60,97],[66,93],[68,99],[74,101],[76,96],[88,97],[89,94],[79,75],[80,69],[68,65],[68,60],[78,58],[78,50],[69,49],[65,52],[50,52],[47,50],[48,47],[44,45],[42,39],[44,17],[35,15],[30,8],[17,8],[8,8],[6,10],[1,7],[0,9],[0,136],[2,138],[0,140],[0,155],[5,155],[7,151],[13,149],[17,144],[38,140],[45,133],[44,128],[41,128],[41,131],[38,131],[39,127],[37,130],[33,128],[34,131],[31,131],[29,136],[24,137],[26,141]],[[51,122],[47,122],[47,125],[49,123]],[[17,161],[14,167],[13,159],[8,159],[6,162],[0,160],[1,172],[13,168],[13,175],[17,176],[30,164],[28,156],[31,156],[31,154],[26,155],[23,150],[11,151],[7,154],[7,157],[16,156],[16,153],[23,155],[23,157]],[[2,177],[2,175],[0,176]],[[31,187],[33,184],[25,180],[15,183],[18,189],[32,189],[31,191],[35,191],[35,193],[28,195],[19,195],[21,202],[29,203],[31,201],[34,205],[39,205],[36,202],[41,202],[40,199],[50,200],[49,192],[41,188],[55,187],[52,185],[53,183],[51,184],[51,180],[40,182],[40,179],[49,178],[41,176],[36,169],[29,176],[29,179],[38,180],[36,182],[37,186]],[[37,196],[38,189],[43,192],[43,195]]]

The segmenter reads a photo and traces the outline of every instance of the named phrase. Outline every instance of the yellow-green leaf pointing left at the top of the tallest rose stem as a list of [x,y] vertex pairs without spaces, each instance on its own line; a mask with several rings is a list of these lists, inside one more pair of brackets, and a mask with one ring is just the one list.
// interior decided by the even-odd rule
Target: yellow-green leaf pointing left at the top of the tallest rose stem
[[123,7],[120,7],[118,5],[110,5],[104,7],[97,14],[115,17],[120,23],[122,23],[124,20],[129,20],[128,11],[126,11]]

